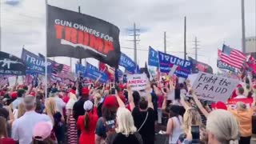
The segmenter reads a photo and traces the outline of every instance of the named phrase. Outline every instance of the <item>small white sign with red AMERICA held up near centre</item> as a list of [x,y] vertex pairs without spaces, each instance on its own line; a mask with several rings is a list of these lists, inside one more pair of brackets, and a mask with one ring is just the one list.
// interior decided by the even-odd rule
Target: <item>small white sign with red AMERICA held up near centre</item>
[[146,74],[130,74],[127,75],[127,84],[131,90],[145,90],[148,78]]

